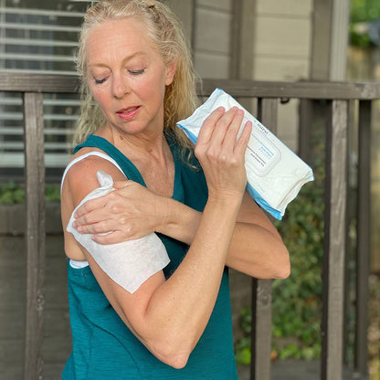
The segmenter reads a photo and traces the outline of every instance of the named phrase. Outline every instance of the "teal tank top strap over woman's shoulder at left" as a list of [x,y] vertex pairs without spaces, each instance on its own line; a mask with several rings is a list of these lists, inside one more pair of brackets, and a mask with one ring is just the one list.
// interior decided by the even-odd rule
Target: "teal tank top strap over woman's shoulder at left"
[[74,153],[77,153],[79,149],[84,147],[99,148],[103,152],[107,153],[117,164],[121,167],[122,172],[128,179],[131,179],[134,182],[139,183],[140,185],[145,185],[145,182],[142,178],[137,167],[132,163],[132,161],[126,157],[118,148],[108,142],[106,139],[90,134],[85,142],[80,143],[74,148]]

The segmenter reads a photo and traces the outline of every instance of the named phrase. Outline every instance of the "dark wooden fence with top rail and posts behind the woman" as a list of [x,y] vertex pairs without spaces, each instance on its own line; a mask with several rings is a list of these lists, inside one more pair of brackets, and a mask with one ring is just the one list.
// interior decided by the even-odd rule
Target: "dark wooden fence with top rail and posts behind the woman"
[[[0,73],[0,91],[23,93],[26,154],[26,343],[25,378],[43,376],[41,346],[45,276],[45,167],[43,93],[73,93],[76,77]],[[247,80],[204,81],[199,95],[216,87],[239,99],[259,100],[259,119],[276,132],[279,100],[301,100],[300,152],[307,151],[312,104],[325,100],[326,180],[325,246],[323,254],[323,311],[321,378],[343,378],[344,259],[346,254],[348,111],[359,101],[359,167],[357,206],[357,272],[360,297],[356,301],[355,371],[367,374],[367,301],[370,231],[370,131],[373,100],[380,99],[380,84],[341,82],[256,82]],[[304,153],[305,153],[304,152]],[[253,280],[251,379],[270,379],[271,281]]]

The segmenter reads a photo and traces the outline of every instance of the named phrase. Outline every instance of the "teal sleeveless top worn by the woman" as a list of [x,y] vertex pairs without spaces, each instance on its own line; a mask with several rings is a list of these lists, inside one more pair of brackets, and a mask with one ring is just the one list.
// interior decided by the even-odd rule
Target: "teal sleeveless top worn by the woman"
[[[173,198],[203,211],[207,186],[200,164],[194,156],[191,164],[198,170],[185,164],[176,143],[169,137],[167,140],[175,165]],[[84,146],[97,147],[109,154],[130,180],[145,185],[134,164],[107,140],[90,135],[75,152]],[[188,246],[172,237],[157,235],[171,260],[164,268],[164,275],[169,278],[184,259]],[[63,370],[63,380],[237,379],[227,268],[205,332],[182,369],[158,360],[133,335],[111,307],[89,266],[75,269],[68,260],[68,287],[73,351]]]

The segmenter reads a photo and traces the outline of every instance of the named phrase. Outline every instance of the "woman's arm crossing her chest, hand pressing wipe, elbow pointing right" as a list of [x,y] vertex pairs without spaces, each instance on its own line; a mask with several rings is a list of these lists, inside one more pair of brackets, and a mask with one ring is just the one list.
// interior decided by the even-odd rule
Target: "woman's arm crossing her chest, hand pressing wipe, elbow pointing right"
[[[80,231],[92,234],[116,231],[95,235],[100,244],[141,237],[153,231],[186,244],[193,242],[202,213],[174,199],[154,195],[132,181],[116,185],[119,191],[82,206],[77,219]],[[147,209],[154,213],[147,215]],[[279,233],[248,193],[244,194],[237,215],[226,264],[258,279],[283,279],[290,273],[289,253]]]

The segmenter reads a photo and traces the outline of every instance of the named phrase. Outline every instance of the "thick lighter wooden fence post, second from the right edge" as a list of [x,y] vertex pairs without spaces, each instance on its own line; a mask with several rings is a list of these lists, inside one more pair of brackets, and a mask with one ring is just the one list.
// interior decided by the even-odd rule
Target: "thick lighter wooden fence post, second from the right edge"
[[345,211],[347,201],[346,100],[332,100],[326,132],[325,226],[322,269],[322,379],[343,375]]

